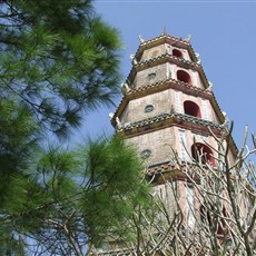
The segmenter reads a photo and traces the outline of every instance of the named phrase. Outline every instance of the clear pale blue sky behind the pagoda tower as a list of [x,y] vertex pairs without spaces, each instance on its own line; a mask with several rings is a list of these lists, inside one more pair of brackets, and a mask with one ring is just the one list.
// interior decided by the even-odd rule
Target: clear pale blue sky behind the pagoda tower
[[[129,56],[139,46],[138,36],[151,39],[168,35],[186,38],[199,52],[206,77],[228,119],[235,121],[239,147],[245,126],[256,132],[256,0],[255,1],[115,1],[96,0],[96,11],[120,31],[124,42],[121,73],[128,76]],[[118,105],[120,99],[116,100]],[[100,108],[85,120],[80,136],[112,134],[108,114]]]

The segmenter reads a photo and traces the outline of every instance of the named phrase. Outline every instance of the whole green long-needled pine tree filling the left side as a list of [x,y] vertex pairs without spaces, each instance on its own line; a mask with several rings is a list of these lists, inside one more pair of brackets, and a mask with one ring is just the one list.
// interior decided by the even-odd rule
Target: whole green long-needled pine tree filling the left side
[[45,145],[112,104],[118,32],[89,0],[1,1],[0,26],[0,254],[83,255],[129,233],[117,227],[147,203],[141,163],[120,138]]

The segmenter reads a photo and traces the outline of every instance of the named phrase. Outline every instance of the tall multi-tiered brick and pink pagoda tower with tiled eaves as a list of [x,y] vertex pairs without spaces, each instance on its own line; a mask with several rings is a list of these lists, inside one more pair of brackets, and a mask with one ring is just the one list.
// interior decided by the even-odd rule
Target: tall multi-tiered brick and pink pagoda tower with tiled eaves
[[[213,83],[206,78],[199,55],[190,45],[190,36],[180,39],[164,31],[150,40],[139,39],[137,52],[130,56],[131,70],[122,83],[124,97],[111,124],[118,135],[137,148],[156,191],[163,189],[166,180],[178,184],[185,226],[193,226],[186,200],[193,200],[195,191],[187,186],[180,166],[200,161],[219,169],[216,138],[227,135],[227,118],[215,98]],[[228,160],[233,163],[237,148],[232,138],[228,141]],[[178,159],[179,168],[174,159]]]

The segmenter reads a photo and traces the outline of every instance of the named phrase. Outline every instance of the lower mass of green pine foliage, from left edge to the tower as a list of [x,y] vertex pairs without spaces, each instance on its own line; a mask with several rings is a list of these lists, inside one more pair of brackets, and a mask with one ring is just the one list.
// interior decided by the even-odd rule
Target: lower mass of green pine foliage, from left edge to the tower
[[66,255],[75,250],[70,239],[85,249],[106,237],[127,238],[132,230],[124,223],[149,204],[142,170],[136,150],[118,137],[89,140],[73,151],[38,151],[26,171],[9,176],[1,194],[2,248],[26,247],[30,237],[48,253]]

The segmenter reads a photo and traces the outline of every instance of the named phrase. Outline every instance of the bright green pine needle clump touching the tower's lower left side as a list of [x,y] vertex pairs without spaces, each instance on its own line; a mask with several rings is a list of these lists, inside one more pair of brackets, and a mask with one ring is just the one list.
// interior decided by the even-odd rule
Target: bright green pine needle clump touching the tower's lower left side
[[35,210],[47,223],[35,239],[42,247],[51,244],[56,254],[61,247],[68,252],[70,239],[82,247],[99,245],[106,236],[127,237],[131,230],[124,223],[138,205],[149,203],[142,164],[118,137],[89,140],[72,152],[51,147],[42,154],[37,171],[48,200]]

